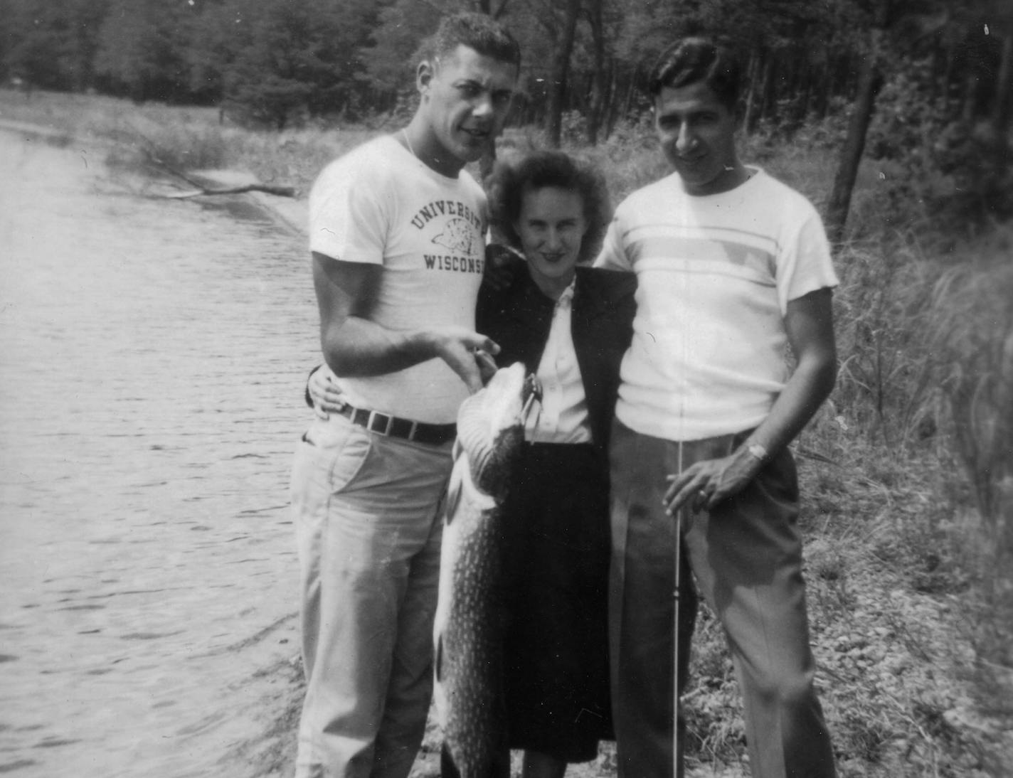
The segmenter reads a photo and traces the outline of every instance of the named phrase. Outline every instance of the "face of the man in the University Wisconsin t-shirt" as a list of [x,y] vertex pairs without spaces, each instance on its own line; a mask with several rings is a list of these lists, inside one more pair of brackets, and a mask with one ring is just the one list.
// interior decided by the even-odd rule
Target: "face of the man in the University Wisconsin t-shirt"
[[442,161],[463,165],[482,156],[502,132],[516,82],[517,66],[463,45],[420,66],[421,109]]

